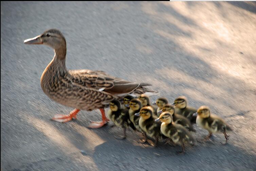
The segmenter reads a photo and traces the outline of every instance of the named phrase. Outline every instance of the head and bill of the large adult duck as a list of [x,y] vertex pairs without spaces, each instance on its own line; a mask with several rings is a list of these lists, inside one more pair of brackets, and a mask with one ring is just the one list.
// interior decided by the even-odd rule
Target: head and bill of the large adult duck
[[24,40],[25,44],[45,44],[55,50],[66,49],[65,37],[57,29],[50,29],[43,32],[34,38]]

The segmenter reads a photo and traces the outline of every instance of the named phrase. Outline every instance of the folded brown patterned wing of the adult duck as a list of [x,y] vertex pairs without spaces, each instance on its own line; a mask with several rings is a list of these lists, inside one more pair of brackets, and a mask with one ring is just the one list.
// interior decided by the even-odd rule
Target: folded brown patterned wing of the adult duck
[[65,79],[79,87],[97,89],[98,91],[105,91],[116,96],[126,95],[138,88],[139,93],[142,94],[148,90],[142,86],[151,86],[151,84],[147,83],[136,83],[114,77],[104,71],[92,70],[70,70]]

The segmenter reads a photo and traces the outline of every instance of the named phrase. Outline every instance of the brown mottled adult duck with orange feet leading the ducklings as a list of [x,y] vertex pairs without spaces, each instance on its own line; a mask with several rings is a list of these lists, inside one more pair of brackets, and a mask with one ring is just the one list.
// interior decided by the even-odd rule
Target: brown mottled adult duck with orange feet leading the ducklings
[[54,115],[54,121],[67,122],[76,118],[80,110],[99,109],[102,121],[91,122],[89,128],[100,128],[109,121],[105,116],[104,107],[107,107],[110,101],[130,93],[139,95],[154,92],[143,87],[150,84],[126,81],[103,71],[67,70],[66,40],[59,30],[44,31],[39,36],[24,40],[24,43],[45,44],[54,49],[54,57],[41,76],[42,90],[56,102],[75,108],[68,115]]

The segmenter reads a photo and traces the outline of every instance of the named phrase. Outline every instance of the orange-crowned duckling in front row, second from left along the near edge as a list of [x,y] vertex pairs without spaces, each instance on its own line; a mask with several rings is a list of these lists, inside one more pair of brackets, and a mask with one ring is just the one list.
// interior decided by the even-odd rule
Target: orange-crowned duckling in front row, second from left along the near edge
[[144,132],[145,141],[147,141],[147,135],[155,140],[155,142],[151,143],[150,145],[152,147],[156,147],[158,140],[160,138],[162,139],[163,135],[161,134],[160,130],[161,124],[155,122],[155,119],[157,117],[153,115],[153,108],[150,106],[145,106],[141,108],[140,113],[137,113],[135,115],[140,116],[139,125]]

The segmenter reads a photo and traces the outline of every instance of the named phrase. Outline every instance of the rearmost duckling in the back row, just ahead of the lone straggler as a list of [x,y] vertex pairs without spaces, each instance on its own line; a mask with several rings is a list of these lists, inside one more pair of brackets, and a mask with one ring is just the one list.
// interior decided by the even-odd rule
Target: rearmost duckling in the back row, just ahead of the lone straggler
[[192,124],[196,123],[196,117],[192,115],[197,112],[197,109],[187,106],[187,98],[185,96],[177,97],[173,104],[175,105],[175,113],[185,116]]

